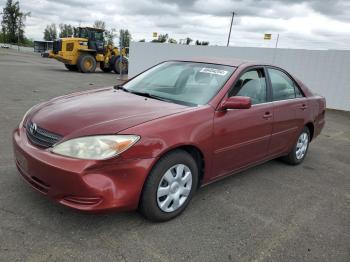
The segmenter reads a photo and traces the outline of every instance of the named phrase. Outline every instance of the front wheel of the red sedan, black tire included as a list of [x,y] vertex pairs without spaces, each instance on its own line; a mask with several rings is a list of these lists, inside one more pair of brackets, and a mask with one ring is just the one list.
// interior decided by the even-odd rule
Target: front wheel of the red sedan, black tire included
[[139,211],[151,221],[173,219],[187,207],[197,185],[196,161],[186,151],[172,151],[150,172],[142,190]]

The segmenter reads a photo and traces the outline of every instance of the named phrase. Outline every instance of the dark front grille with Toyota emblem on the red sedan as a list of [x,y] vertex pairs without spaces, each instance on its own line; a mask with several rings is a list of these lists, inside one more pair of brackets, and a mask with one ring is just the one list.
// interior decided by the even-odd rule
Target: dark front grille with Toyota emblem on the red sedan
[[26,126],[27,137],[29,141],[39,147],[48,148],[52,147],[58,141],[62,139],[62,136],[47,131],[39,126],[33,128],[33,123],[28,122]]

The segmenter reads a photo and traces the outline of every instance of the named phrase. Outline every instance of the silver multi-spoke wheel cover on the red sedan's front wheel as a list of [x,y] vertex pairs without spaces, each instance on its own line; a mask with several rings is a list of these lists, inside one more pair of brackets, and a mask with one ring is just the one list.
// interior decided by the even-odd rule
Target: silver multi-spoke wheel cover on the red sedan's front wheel
[[192,173],[188,166],[177,164],[163,175],[157,189],[158,207],[164,212],[179,209],[188,198],[192,188]]

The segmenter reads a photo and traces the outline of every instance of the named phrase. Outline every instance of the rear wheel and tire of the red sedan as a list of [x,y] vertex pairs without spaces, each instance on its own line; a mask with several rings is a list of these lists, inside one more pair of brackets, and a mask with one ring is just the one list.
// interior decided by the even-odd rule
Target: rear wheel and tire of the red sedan
[[282,160],[290,165],[299,165],[304,161],[310,144],[310,131],[305,126],[298,136],[292,151]]

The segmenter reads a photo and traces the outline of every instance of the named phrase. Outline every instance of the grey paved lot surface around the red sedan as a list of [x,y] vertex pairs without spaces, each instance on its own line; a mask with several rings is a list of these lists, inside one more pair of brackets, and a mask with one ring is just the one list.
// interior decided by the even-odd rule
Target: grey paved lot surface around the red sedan
[[12,156],[26,109],[116,83],[0,50],[0,261],[350,261],[350,113],[327,112],[302,165],[274,160],[204,187],[167,223],[80,213],[35,192]]

